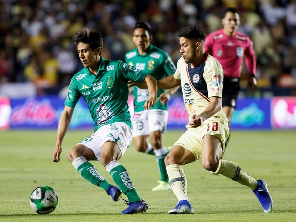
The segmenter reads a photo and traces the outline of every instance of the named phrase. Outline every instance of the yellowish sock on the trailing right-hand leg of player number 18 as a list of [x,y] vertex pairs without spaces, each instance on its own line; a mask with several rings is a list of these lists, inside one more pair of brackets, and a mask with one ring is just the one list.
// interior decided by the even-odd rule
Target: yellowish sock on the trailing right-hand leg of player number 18
[[242,185],[248,186],[252,190],[257,186],[257,181],[253,177],[241,169],[235,162],[229,160],[219,160],[219,165],[215,173],[222,174]]

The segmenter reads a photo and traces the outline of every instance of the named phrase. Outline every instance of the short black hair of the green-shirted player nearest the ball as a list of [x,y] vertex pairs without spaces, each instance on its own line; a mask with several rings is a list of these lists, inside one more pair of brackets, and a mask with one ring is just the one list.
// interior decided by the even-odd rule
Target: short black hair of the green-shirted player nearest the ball
[[74,37],[74,45],[76,48],[79,42],[89,44],[92,50],[98,47],[103,49],[103,36],[92,28],[86,27],[76,32]]

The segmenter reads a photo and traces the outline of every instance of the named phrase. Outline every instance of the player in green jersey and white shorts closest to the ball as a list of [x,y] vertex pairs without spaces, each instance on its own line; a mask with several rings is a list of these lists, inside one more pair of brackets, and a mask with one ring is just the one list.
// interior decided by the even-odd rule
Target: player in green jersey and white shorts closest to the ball
[[[122,192],[127,195],[128,201],[125,203],[129,206],[121,214],[145,212],[148,204],[139,197],[128,171],[118,161],[132,140],[127,104],[128,80],[148,85],[149,96],[143,104],[144,109],[150,109],[156,102],[156,80],[122,61],[104,59],[101,56],[103,38],[90,28],[76,33],[74,45],[84,68],[71,79],[58,124],[52,160],[60,161],[62,141],[75,105],[82,96],[95,122],[94,133],[70,149],[68,160],[83,178],[103,188],[114,201],[120,199]],[[90,160],[99,160],[119,188],[108,183]]]

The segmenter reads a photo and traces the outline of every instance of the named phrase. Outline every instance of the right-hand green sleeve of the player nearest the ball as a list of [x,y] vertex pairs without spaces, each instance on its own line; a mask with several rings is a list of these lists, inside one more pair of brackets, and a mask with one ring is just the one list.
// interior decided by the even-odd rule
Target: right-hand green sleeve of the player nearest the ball
[[127,65],[126,63],[119,61],[118,63],[118,72],[119,74],[121,74],[125,80],[133,80],[133,81],[137,81],[137,82],[143,82],[145,77],[146,77],[146,73],[138,70],[136,67],[131,66],[131,65]]

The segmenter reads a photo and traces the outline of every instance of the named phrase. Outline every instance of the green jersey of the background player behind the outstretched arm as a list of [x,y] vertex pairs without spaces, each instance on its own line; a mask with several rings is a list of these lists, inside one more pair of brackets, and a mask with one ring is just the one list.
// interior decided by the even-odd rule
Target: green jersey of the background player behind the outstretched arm
[[[153,45],[150,45],[149,51],[145,55],[140,55],[137,48],[125,54],[125,62],[131,66],[136,67],[138,70],[151,75],[156,80],[162,79],[168,75],[173,75],[176,71],[176,66],[172,62],[170,56]],[[149,98],[148,90],[139,89],[134,87],[134,110],[135,112],[143,111],[143,105]],[[157,91],[157,98],[161,93],[165,92],[164,89]],[[162,104],[157,100],[153,107],[150,109],[167,110],[167,105]]]

